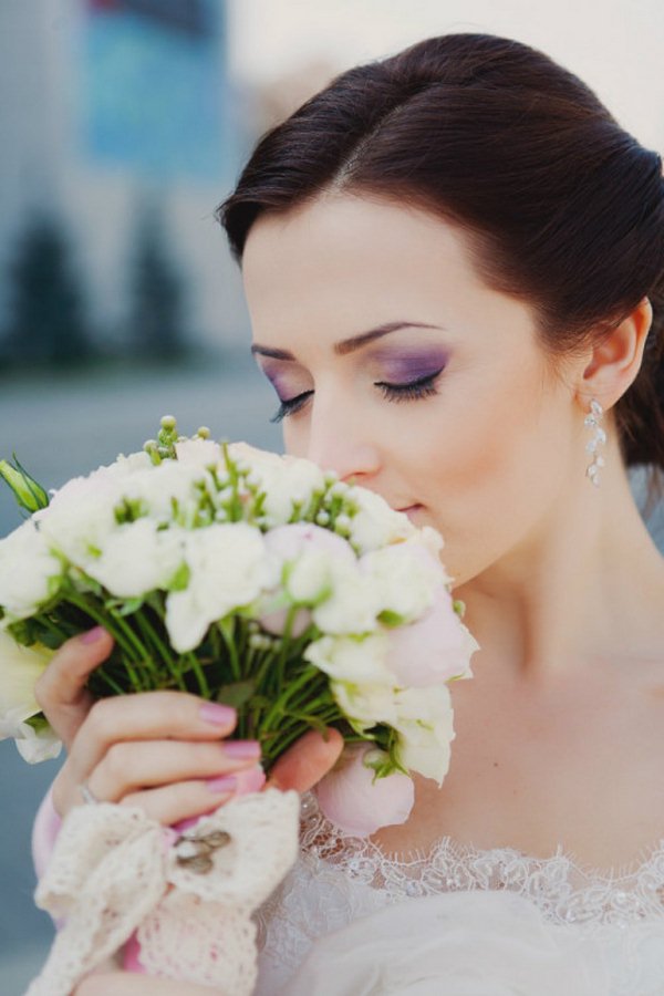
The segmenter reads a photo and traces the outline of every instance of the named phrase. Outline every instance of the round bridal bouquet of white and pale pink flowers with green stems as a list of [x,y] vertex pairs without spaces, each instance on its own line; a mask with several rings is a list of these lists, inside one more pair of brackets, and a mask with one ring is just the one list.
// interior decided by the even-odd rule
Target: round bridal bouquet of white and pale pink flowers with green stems
[[339,729],[346,750],[318,795],[351,832],[403,822],[412,772],[443,780],[447,683],[470,675],[477,643],[434,530],[308,460],[185,438],[168,416],[143,452],[51,498],[18,461],[0,475],[30,513],[0,540],[0,736],[27,759],[58,749],[37,675],[98,624],[115,645],[93,695],[232,705],[266,772],[308,729]]

